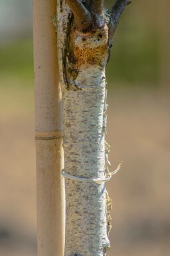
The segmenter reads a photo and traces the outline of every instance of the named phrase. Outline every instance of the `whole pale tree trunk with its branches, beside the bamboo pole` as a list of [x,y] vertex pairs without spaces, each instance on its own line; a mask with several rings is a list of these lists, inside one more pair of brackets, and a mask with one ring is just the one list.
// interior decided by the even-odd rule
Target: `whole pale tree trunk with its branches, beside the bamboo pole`
[[[106,64],[112,38],[130,1],[58,0],[58,63],[64,124],[65,256],[102,256],[110,249],[111,201],[106,144]],[[76,180],[79,178],[80,180]],[[86,182],[82,182],[85,178]]]

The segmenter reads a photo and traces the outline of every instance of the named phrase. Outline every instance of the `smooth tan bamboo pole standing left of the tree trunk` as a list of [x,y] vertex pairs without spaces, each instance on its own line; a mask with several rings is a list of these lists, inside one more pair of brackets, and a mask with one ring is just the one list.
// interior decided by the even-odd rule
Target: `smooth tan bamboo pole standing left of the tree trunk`
[[64,255],[62,107],[52,17],[56,0],[33,0],[38,256]]

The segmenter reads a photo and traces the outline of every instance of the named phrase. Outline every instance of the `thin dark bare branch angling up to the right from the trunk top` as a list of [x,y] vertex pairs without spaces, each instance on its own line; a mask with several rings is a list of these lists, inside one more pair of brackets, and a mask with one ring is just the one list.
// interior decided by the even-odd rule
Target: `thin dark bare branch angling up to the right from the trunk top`
[[114,6],[111,9],[111,17],[110,17],[110,29],[112,31],[112,35],[116,31],[116,28],[118,27],[118,24],[120,22],[120,19],[122,18],[122,15],[124,13],[124,10],[126,9],[127,5],[131,3],[131,0],[116,0],[114,3]]

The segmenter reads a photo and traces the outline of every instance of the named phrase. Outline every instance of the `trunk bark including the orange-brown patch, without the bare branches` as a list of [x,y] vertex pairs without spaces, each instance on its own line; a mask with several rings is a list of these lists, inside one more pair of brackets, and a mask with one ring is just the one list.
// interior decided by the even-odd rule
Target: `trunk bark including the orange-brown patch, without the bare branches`
[[[72,77],[64,56],[69,9],[58,7],[59,66],[64,122],[64,171],[84,178],[105,178],[104,106],[107,28],[91,33],[70,31],[78,72]],[[100,35],[99,35],[100,34]],[[66,49],[68,50],[68,49]],[[71,53],[70,53],[71,54]],[[64,66],[63,61],[66,60]],[[91,58],[91,59],[90,59]],[[97,64],[94,64],[96,62]],[[66,77],[67,76],[67,77]],[[104,255],[110,247],[106,220],[106,186],[66,179],[65,255]]]

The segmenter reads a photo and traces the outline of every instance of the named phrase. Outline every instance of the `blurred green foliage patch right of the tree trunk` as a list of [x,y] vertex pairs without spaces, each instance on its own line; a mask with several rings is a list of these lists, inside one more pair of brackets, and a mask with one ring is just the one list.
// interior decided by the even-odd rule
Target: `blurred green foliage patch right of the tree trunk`
[[[130,15],[131,14],[131,15]],[[158,86],[161,79],[161,51],[156,25],[124,15],[114,36],[106,69],[108,86]]]

